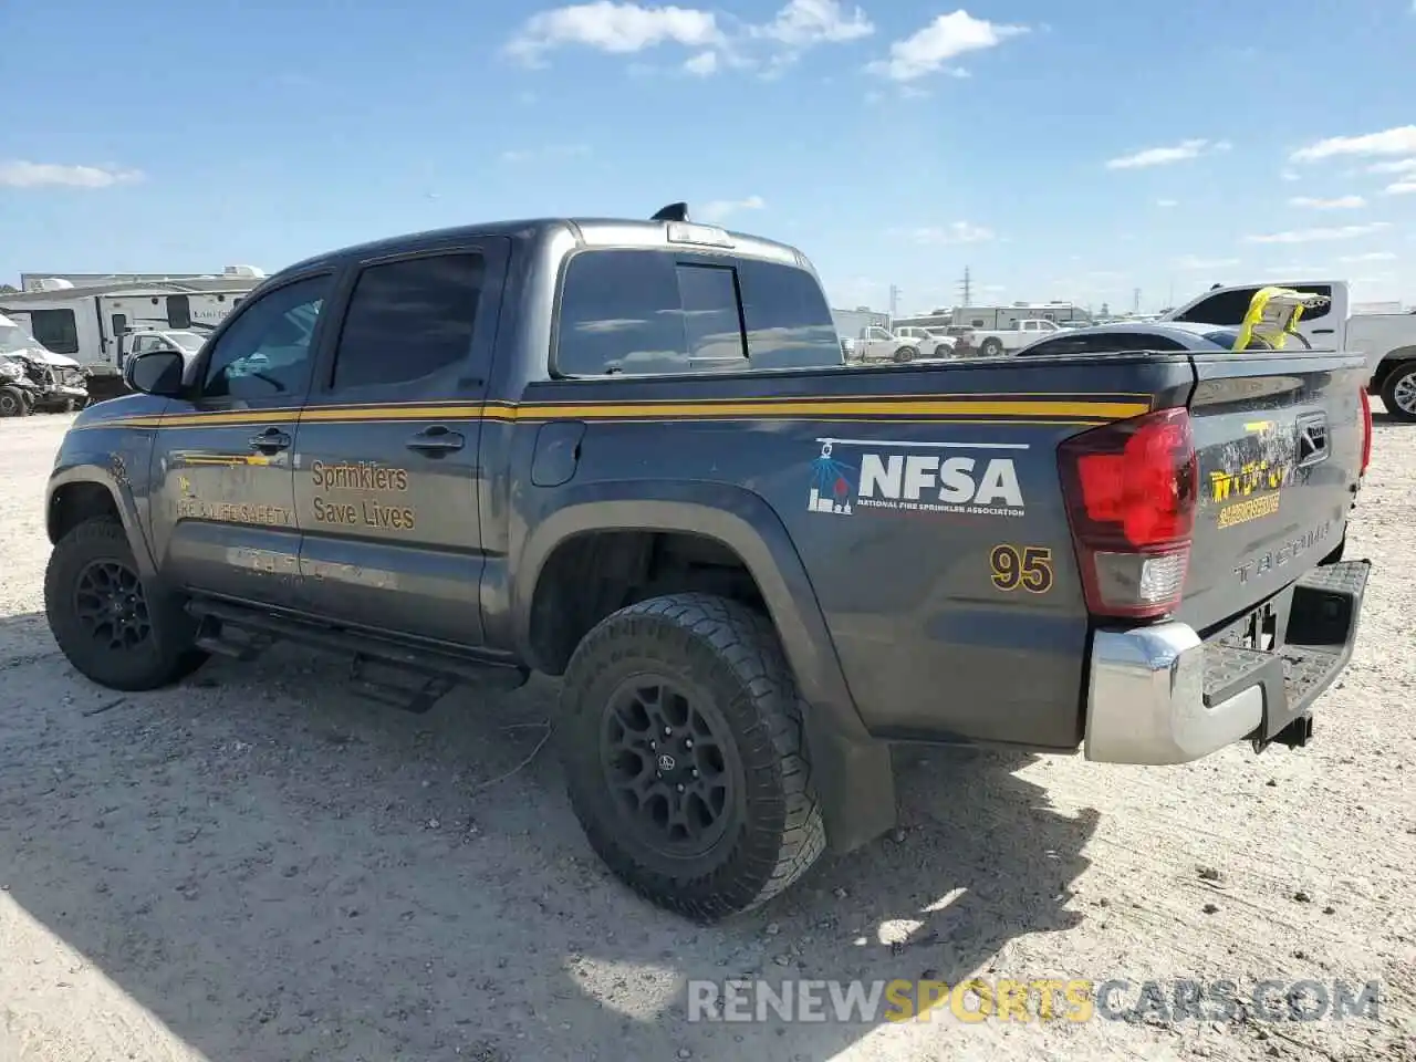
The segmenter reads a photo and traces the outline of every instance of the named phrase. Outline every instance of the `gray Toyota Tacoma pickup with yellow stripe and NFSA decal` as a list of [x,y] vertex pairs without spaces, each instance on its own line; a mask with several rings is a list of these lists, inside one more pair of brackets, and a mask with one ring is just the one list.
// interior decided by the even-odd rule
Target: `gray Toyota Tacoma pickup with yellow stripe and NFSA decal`
[[74,422],[50,626],[118,690],[272,641],[413,711],[564,675],[590,844],[701,920],[889,830],[891,742],[1307,742],[1361,357],[843,361],[799,251],[683,204],[300,262]]

